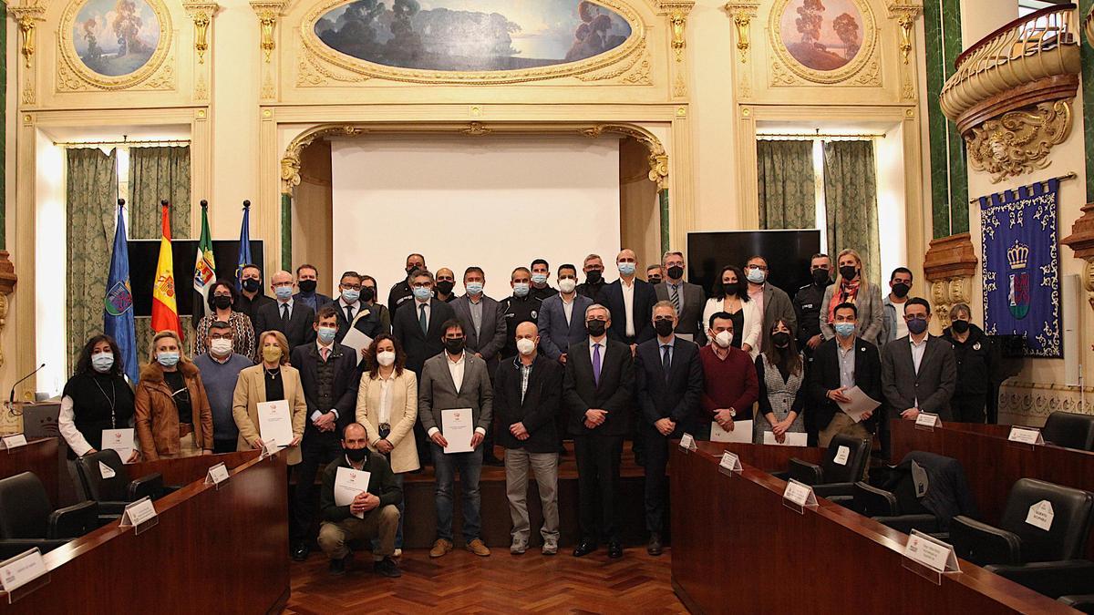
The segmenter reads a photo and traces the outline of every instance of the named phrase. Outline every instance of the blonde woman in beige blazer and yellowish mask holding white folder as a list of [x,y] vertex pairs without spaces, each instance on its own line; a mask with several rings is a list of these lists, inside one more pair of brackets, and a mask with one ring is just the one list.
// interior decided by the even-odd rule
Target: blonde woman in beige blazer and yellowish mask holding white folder
[[232,416],[240,428],[240,451],[261,449],[259,434],[258,404],[264,402],[289,402],[292,411],[291,442],[278,442],[288,446],[286,463],[300,463],[300,440],[304,436],[307,402],[300,385],[300,372],[289,365],[289,341],[281,332],[268,330],[258,336],[258,353],[263,362],[240,372],[232,396]]

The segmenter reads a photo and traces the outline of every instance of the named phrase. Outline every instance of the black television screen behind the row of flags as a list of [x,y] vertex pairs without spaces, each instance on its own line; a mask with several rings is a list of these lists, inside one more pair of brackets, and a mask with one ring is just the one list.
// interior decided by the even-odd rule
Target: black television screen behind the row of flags
[[[129,240],[129,286],[132,287],[133,314],[152,315],[152,282],[160,260],[160,240]],[[194,262],[198,256],[198,240],[172,240],[175,288],[179,316],[194,314]],[[240,258],[240,240],[213,240],[212,255],[217,262],[217,277],[235,279],[236,260]],[[261,240],[251,240],[252,260],[263,262]],[[265,283],[265,279],[264,279]]]

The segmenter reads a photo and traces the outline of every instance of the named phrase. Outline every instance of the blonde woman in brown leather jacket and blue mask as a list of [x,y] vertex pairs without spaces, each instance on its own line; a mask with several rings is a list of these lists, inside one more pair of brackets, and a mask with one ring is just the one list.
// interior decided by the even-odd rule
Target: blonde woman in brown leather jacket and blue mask
[[152,338],[135,405],[144,461],[212,454],[212,410],[201,372],[186,358],[175,332],[162,330]]

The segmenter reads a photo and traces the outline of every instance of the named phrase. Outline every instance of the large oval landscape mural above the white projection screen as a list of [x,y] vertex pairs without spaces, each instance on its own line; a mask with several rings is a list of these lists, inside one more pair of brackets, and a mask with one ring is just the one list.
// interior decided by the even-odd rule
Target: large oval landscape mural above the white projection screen
[[589,0],[358,0],[323,14],[328,47],[393,68],[526,70],[621,46],[631,26]]

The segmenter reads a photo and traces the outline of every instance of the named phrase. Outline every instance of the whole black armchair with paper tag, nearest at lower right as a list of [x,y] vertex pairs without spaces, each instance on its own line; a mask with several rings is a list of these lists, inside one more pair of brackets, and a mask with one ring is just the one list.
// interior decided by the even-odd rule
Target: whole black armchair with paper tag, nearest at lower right
[[[1048,530],[1027,523],[1031,508],[1052,504]],[[950,524],[957,556],[1051,597],[1094,593],[1094,562],[1080,559],[1094,521],[1094,494],[1021,478],[999,527],[958,515]]]

